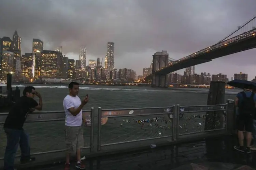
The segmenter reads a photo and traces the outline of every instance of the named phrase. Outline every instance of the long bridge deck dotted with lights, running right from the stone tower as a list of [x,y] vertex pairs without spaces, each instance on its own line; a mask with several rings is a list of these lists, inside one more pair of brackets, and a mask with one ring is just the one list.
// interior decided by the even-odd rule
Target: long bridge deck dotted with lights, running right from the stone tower
[[[256,47],[256,29],[250,30],[238,36],[221,41],[211,47],[202,49],[189,56],[173,62],[171,65],[154,72],[156,75],[166,75],[168,73],[212,61],[215,58],[253,49]],[[151,80],[152,74],[143,78],[144,81]]]

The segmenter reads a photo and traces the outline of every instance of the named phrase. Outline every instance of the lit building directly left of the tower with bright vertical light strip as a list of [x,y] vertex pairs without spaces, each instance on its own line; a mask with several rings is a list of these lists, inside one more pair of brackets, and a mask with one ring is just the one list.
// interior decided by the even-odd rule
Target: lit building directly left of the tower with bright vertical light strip
[[25,55],[22,55],[21,72],[22,72],[22,75],[28,80],[33,78],[32,65],[33,65],[33,54],[25,53]]

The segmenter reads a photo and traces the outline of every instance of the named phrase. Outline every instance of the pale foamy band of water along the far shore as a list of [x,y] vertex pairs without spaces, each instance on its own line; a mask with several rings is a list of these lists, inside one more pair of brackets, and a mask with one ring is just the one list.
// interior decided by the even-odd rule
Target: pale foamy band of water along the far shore
[[[6,84],[0,84],[0,86],[6,86]],[[12,85],[13,87],[25,87],[24,85]],[[68,86],[34,86],[35,88],[68,88]],[[79,87],[80,89],[83,90],[107,90],[107,91],[141,91],[141,92],[155,92],[155,91],[165,91],[165,92],[186,92],[186,93],[208,93],[208,89],[196,89],[196,90],[190,90],[190,89],[179,89],[179,90],[175,90],[175,89],[171,89],[171,90],[161,90],[161,89],[132,89],[132,88],[96,88],[96,87]],[[227,91],[226,90],[226,94],[229,95],[234,95],[237,94],[238,91]]]

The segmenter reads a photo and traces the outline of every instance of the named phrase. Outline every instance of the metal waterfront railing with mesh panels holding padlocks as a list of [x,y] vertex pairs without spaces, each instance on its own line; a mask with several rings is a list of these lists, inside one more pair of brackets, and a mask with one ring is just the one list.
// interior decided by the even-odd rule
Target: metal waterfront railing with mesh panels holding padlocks
[[[98,108],[98,114],[95,114],[94,107],[91,107],[90,110],[83,111],[83,118],[86,119],[86,125],[90,128],[90,142],[89,146],[86,146],[82,149],[89,149],[89,152],[100,152],[101,148],[107,146],[116,146],[121,144],[127,143],[134,143],[140,142],[143,143],[144,141],[161,141],[165,138],[168,138],[168,142],[179,142],[180,138],[191,138],[191,135],[199,134],[202,137],[205,135],[211,135],[212,132],[218,131],[218,134],[228,134],[231,133],[233,130],[233,112],[234,112],[234,101],[227,100],[226,104],[219,104],[219,105],[199,105],[199,106],[180,106],[180,105],[172,105],[168,107],[151,107],[151,108],[128,108],[128,109],[102,109],[101,107]],[[206,112],[207,114],[202,114]],[[198,115],[196,115],[198,114]],[[1,113],[0,114],[0,124],[4,123],[4,120],[8,113]],[[97,121],[94,121],[95,117],[98,117]],[[156,117],[157,116],[157,117]],[[218,118],[220,123],[216,125],[217,120],[212,120],[209,123],[210,118]],[[148,126],[153,124],[153,121],[156,123],[157,121],[161,121],[162,124],[165,124],[166,129],[163,129],[163,132],[166,132],[165,136],[159,135],[156,137],[144,137],[141,139],[130,139],[124,141],[115,141],[115,142],[105,142],[102,144],[102,126],[109,124],[111,126],[111,119],[118,121],[119,118],[136,118],[136,117],[144,117],[145,122],[140,120],[133,120],[133,124],[141,124],[148,123]],[[151,117],[151,118],[145,118]],[[118,120],[117,120],[118,119]],[[27,118],[27,123],[32,122],[56,122],[56,121],[64,121],[65,120],[65,112],[57,111],[57,112],[39,112],[39,113],[32,113]],[[193,123],[189,124],[189,121],[193,121]],[[207,122],[208,121],[208,122]],[[169,123],[170,122],[170,126]],[[205,122],[205,125],[203,123]],[[213,127],[212,129],[208,130],[206,128],[206,122],[211,124]],[[97,133],[94,133],[96,126],[94,124],[98,124]],[[167,128],[168,125],[168,128]],[[191,125],[191,126],[190,126]],[[63,122],[64,126],[64,122]],[[158,126],[158,125],[156,125]],[[159,127],[164,125],[159,125]],[[103,129],[104,130],[104,129]],[[221,131],[221,132],[219,132]],[[4,136],[4,134],[0,134]],[[141,135],[138,132],[138,135]],[[97,142],[94,139],[97,138]],[[117,136],[112,136],[111,138],[117,138]],[[64,143],[64,141],[63,141]],[[94,149],[97,145],[97,149]],[[146,144],[148,145],[148,144]],[[1,146],[1,143],[0,143]],[[3,145],[2,145],[3,146]],[[134,146],[131,146],[134,147]],[[54,148],[52,148],[54,149]],[[49,154],[49,153],[56,153],[56,152],[64,152],[65,149],[60,150],[50,150],[45,152],[36,152],[32,153],[31,155],[40,155],[40,154]],[[2,157],[1,155],[0,157]],[[3,159],[3,158],[0,158]]]

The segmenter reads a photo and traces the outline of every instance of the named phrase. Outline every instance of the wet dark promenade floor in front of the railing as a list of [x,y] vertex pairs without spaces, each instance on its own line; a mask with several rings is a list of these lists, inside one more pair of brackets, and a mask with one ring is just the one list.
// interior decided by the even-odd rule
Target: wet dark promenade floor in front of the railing
[[[243,165],[256,168],[256,152],[244,154],[234,150],[236,141],[235,136],[229,135],[176,146],[157,145],[153,149],[148,146],[140,151],[127,150],[124,153],[87,158],[85,164],[89,170],[189,170],[192,169],[191,163],[212,170],[234,170]],[[63,164],[63,162],[53,164],[48,161],[38,166],[36,162],[33,167],[30,164],[20,166],[18,169],[63,170]],[[71,170],[75,169],[73,164],[71,163]]]

